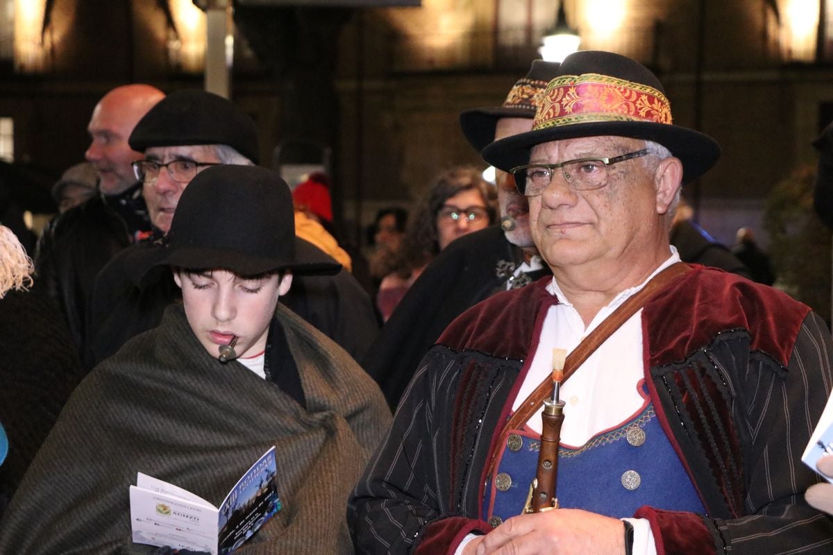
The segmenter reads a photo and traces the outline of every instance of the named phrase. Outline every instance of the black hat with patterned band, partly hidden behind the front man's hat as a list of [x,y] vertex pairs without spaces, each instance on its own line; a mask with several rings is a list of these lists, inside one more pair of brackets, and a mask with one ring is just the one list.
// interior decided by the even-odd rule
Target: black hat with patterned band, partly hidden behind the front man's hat
[[501,106],[462,111],[460,127],[471,146],[480,152],[494,141],[497,121],[502,117],[535,117],[546,85],[552,77],[556,77],[560,65],[558,62],[535,60],[526,77],[515,83]]

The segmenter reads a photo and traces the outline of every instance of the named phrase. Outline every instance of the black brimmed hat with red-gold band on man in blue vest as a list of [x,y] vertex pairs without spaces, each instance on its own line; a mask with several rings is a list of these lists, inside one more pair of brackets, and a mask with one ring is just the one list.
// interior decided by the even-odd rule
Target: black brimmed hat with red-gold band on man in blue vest
[[683,183],[714,166],[721,147],[710,136],[671,122],[671,105],[656,76],[612,52],[564,58],[546,87],[532,131],[486,146],[483,159],[510,171],[529,163],[532,146],[582,136],[627,136],[665,146],[682,161]]

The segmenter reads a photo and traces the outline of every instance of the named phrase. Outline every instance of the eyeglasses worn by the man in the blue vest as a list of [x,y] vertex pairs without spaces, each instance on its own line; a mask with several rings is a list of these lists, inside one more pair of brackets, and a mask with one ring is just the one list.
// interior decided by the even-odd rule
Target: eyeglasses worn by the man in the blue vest
[[512,168],[509,172],[515,177],[515,186],[524,196],[541,195],[550,186],[558,168],[564,174],[564,181],[574,191],[591,191],[607,185],[607,166],[647,154],[648,150],[642,149],[613,158],[579,158],[561,164],[528,164]]

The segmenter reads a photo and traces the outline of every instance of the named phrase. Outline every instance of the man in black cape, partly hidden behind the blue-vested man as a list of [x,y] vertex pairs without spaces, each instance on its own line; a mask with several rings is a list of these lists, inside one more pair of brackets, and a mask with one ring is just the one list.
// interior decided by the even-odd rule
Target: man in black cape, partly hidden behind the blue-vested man
[[[476,151],[491,141],[529,131],[546,83],[558,64],[536,60],[500,107],[460,114],[463,135]],[[385,325],[362,367],[396,408],[422,355],[464,310],[498,291],[550,273],[532,243],[529,204],[506,171],[496,171],[501,225],[475,231],[443,249],[414,282]]]

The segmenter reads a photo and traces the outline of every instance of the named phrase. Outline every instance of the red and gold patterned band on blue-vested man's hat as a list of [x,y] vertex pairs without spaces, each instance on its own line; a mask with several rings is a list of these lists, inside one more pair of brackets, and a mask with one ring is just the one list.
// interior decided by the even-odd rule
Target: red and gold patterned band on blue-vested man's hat
[[596,121],[671,125],[671,104],[653,87],[586,73],[556,77],[546,87],[532,129]]

